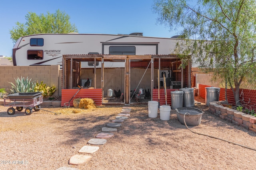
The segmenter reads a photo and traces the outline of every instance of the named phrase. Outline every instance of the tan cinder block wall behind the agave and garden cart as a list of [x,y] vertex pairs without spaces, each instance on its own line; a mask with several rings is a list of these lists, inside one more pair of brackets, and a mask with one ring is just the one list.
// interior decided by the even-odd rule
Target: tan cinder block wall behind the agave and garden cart
[[61,96],[62,70],[59,65],[51,66],[0,66],[0,88],[12,89],[12,82],[16,85],[14,78],[28,77],[39,83],[43,81],[47,86],[56,86],[54,96]]

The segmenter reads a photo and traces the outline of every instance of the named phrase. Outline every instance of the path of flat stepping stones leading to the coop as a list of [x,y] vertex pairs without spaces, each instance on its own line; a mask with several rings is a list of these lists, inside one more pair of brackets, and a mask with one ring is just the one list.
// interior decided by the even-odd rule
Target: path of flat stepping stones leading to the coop
[[[98,133],[96,138],[90,139],[87,143],[89,145],[104,145],[107,140],[102,139],[102,138],[110,138],[114,136],[114,133],[110,132],[115,132],[117,131],[116,128],[113,127],[120,127],[122,124],[121,122],[124,122],[124,119],[128,119],[127,116],[130,116],[131,113],[131,107],[122,107],[122,111],[116,116],[116,119],[112,120],[114,123],[108,123],[108,127],[102,127],[101,133]],[[85,163],[86,161],[90,160],[92,156],[90,155],[85,155],[85,154],[92,154],[96,152],[99,149],[99,147],[94,147],[94,146],[84,146],[82,147],[78,153],[81,154],[75,154],[69,159],[68,164],[71,165],[80,165]],[[77,170],[76,168],[70,168],[70,167],[60,167],[57,170]]]

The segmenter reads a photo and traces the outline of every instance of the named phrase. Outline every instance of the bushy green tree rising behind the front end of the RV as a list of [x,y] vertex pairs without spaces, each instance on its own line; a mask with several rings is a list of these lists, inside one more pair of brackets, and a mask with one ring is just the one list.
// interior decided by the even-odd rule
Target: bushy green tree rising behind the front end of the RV
[[39,33],[70,33],[78,32],[76,26],[70,23],[70,17],[65,12],[56,10],[54,14],[37,15],[29,12],[26,23],[16,22],[16,27],[10,30],[12,41],[15,43],[20,37]]

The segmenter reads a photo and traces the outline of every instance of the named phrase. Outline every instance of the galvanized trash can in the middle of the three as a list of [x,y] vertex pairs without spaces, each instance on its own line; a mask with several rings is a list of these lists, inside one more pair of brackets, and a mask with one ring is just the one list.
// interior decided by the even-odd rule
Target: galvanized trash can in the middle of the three
[[194,107],[194,88],[180,88],[183,91],[183,107]]

